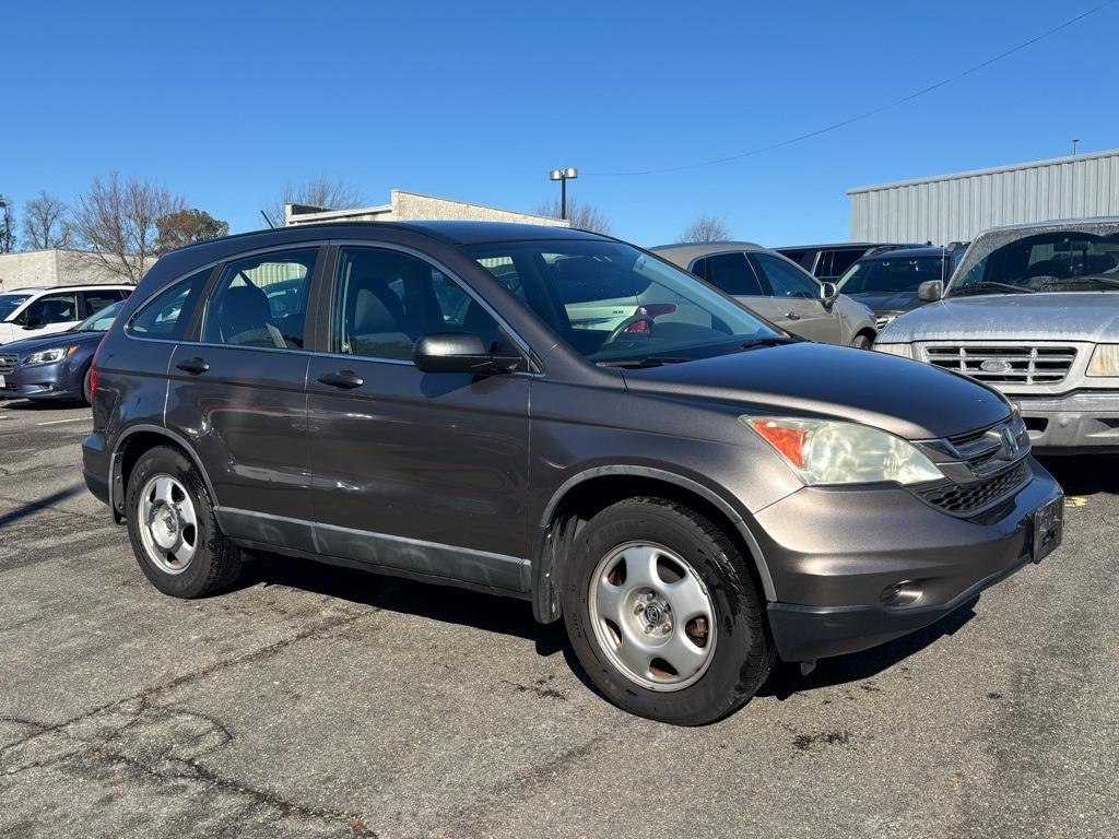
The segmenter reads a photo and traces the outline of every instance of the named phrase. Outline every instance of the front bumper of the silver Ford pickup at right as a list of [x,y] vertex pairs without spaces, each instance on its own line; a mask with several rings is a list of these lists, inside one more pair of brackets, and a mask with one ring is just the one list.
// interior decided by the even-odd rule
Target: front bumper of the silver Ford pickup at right
[[1034,449],[1047,454],[1119,452],[1119,393],[1004,396],[1017,405]]

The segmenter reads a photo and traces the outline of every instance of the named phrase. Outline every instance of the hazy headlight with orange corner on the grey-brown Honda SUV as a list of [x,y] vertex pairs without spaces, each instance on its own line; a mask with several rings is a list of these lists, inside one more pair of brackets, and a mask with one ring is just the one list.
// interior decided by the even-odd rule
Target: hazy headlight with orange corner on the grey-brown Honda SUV
[[805,483],[924,483],[944,478],[912,443],[858,423],[743,416]]

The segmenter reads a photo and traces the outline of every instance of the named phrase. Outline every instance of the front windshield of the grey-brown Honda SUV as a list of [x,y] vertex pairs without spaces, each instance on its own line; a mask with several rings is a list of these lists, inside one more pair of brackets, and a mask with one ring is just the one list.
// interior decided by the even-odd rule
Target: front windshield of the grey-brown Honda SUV
[[692,274],[618,242],[467,251],[591,361],[679,361],[787,339]]

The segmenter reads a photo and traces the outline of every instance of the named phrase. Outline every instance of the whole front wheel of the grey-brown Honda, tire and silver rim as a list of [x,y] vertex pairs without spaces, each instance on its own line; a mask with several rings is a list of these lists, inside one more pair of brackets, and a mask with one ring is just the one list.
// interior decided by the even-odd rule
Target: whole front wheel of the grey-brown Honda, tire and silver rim
[[665,499],[620,501],[586,524],[564,616],[602,692],[665,723],[726,716],[773,667],[764,605],[743,558],[705,517]]

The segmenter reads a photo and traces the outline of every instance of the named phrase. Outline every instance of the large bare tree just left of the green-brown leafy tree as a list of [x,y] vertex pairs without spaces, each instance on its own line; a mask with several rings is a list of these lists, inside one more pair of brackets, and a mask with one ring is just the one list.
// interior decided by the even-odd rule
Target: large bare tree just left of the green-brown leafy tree
[[158,221],[185,209],[184,201],[149,178],[94,178],[74,206],[75,237],[107,271],[138,283],[159,255]]

